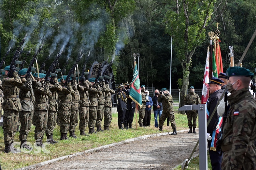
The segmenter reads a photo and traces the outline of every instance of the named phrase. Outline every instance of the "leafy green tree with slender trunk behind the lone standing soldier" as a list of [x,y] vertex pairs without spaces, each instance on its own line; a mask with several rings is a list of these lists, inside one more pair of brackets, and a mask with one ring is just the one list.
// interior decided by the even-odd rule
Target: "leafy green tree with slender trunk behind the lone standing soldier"
[[[205,27],[211,19],[216,0],[172,1],[171,9],[166,13],[166,32],[173,36],[174,51],[179,58],[182,72],[180,107],[189,85],[191,58],[196,47],[205,39]],[[184,112],[181,112],[184,114]]]

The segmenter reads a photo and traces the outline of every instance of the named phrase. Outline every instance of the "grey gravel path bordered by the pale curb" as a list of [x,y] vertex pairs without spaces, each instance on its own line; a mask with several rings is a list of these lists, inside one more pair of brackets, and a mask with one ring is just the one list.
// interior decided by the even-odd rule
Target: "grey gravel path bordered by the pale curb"
[[187,131],[178,132],[177,135],[149,137],[37,169],[171,169],[189,158],[197,140],[198,134],[187,134]]

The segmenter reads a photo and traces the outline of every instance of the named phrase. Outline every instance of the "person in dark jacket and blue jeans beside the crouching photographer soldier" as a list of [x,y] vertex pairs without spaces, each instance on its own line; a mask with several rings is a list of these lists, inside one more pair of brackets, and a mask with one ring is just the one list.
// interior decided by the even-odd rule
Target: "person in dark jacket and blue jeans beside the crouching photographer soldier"
[[159,90],[156,89],[155,90],[155,96],[152,97],[153,111],[154,111],[154,116],[155,116],[155,127],[156,128],[158,128],[157,115],[158,115],[158,118],[160,119],[160,116],[161,116],[162,111],[163,111],[162,103],[157,101],[158,94],[159,94]]

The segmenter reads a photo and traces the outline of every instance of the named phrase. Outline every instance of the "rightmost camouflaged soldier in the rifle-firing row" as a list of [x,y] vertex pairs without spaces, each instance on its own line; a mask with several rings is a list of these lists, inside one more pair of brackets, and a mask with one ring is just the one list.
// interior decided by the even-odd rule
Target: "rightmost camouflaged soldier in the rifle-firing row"
[[115,90],[109,88],[109,82],[106,81],[106,92],[104,92],[105,97],[105,110],[104,110],[104,130],[110,130],[109,126],[112,121],[112,94],[115,94]]

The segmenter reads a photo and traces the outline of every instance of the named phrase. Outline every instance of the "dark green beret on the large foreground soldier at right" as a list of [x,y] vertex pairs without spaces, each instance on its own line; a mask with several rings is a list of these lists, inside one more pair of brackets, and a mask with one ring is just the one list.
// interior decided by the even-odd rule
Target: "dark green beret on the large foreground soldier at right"
[[243,77],[254,77],[254,73],[252,73],[250,70],[244,68],[244,67],[229,67],[226,71],[226,74],[228,77],[232,76],[243,76]]

